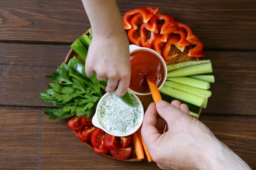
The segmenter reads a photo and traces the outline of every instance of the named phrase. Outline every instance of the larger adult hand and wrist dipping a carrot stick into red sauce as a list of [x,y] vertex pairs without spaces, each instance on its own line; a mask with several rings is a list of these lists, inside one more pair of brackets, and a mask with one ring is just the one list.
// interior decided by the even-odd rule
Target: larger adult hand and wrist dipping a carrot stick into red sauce
[[[164,120],[169,130],[162,134]],[[250,170],[207,126],[190,118],[188,107],[177,100],[149,105],[141,133],[153,161],[161,169]]]

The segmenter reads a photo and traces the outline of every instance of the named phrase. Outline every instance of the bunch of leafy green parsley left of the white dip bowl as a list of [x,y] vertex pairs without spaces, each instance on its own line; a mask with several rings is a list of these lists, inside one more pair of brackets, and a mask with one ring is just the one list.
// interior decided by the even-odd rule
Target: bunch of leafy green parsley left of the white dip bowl
[[48,85],[46,91],[41,91],[40,99],[51,102],[59,109],[46,108],[44,113],[49,119],[66,119],[73,115],[84,116],[87,119],[93,115],[96,105],[104,92],[100,87],[104,87],[106,82],[99,81],[96,75],[85,77],[89,81],[83,82],[80,79],[69,75],[69,68],[63,63],[57,69],[57,73],[45,76],[52,79],[54,83]]

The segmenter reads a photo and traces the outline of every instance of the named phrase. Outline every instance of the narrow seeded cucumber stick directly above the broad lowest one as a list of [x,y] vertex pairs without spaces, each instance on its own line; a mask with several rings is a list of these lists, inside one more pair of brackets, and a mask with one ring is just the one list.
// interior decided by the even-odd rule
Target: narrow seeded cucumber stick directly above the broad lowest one
[[205,89],[201,89],[201,88],[195,88],[193,86],[184,85],[184,84],[181,84],[181,83],[178,83],[178,82],[166,81],[164,83],[164,85],[166,85],[168,87],[171,87],[171,88],[176,88],[180,91],[185,91],[185,92],[188,92],[188,93],[191,93],[191,94],[195,94],[197,96],[204,97],[204,98],[212,96],[212,92],[209,91],[209,90],[205,90]]

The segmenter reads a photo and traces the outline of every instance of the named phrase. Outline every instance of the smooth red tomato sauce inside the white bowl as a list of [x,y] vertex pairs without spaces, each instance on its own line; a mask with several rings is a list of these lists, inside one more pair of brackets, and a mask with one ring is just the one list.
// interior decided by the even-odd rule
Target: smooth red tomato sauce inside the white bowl
[[130,55],[131,81],[129,88],[139,93],[148,93],[150,89],[146,76],[150,74],[150,81],[159,87],[165,76],[162,60],[151,51],[138,50]]

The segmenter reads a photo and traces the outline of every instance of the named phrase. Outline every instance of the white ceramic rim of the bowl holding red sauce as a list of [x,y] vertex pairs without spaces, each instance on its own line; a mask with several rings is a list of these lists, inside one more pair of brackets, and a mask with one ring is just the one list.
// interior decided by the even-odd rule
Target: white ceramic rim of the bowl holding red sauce
[[[158,54],[157,51],[154,51],[154,50],[152,50],[152,49],[150,49],[150,48],[139,47],[139,46],[137,46],[137,45],[130,45],[129,48],[130,48],[130,54],[133,53],[134,51],[146,50],[146,51],[150,51],[150,52],[156,54],[157,57],[161,59],[161,61],[162,61],[162,63],[163,63],[165,75],[164,75],[164,79],[163,79],[162,84],[158,87],[158,90],[159,90],[161,87],[163,87],[163,84],[166,82],[166,78],[167,78],[167,66],[166,66],[166,63],[165,63],[163,57],[162,57],[160,54]],[[151,94],[151,92],[148,92],[148,93],[139,93],[139,92],[137,92],[137,91],[131,90],[130,88],[128,88],[128,91],[131,91],[132,93],[138,94],[138,95],[149,95],[149,94]]]

